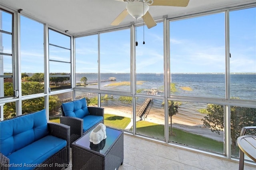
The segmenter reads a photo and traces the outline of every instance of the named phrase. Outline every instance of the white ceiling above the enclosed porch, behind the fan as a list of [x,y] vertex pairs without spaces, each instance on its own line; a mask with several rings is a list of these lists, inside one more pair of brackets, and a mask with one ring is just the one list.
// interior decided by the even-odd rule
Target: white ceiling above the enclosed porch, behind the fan
[[[156,20],[168,15],[168,18],[199,12],[224,9],[256,0],[190,0],[187,7],[150,6],[149,12]],[[125,9],[126,2],[118,0],[0,0],[3,7],[20,12],[71,35],[87,32],[110,30],[128,26],[135,19],[128,15],[119,26],[111,22]],[[142,22],[139,19],[137,23]]]

